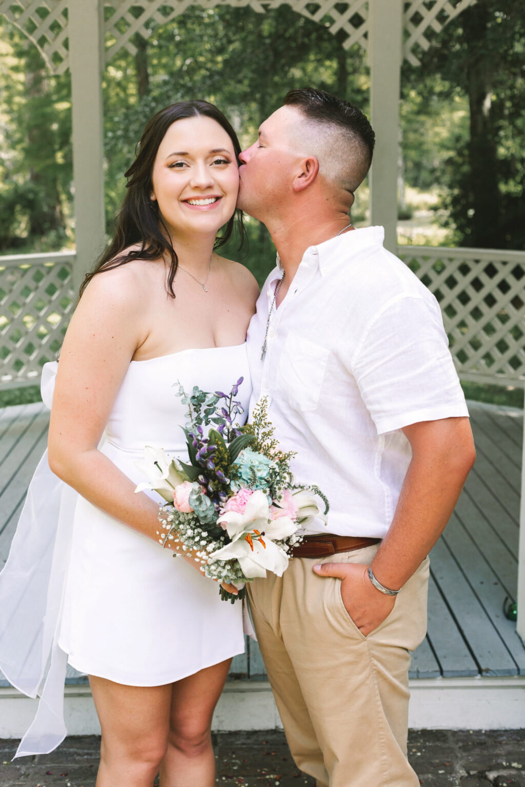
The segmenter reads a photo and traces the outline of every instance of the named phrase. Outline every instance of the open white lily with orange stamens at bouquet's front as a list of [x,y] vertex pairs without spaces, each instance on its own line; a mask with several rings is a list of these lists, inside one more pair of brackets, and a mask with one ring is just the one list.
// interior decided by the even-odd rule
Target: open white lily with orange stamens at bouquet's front
[[247,578],[265,577],[266,570],[278,577],[288,566],[287,553],[274,543],[287,538],[297,530],[289,516],[269,519],[268,499],[264,492],[256,490],[250,495],[243,514],[227,511],[218,520],[226,527],[231,544],[212,552],[211,560],[231,560],[240,563]]

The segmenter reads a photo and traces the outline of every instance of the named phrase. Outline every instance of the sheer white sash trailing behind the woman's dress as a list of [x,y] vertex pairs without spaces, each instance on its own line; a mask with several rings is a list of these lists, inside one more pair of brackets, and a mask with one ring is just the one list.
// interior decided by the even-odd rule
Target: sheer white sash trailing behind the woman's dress
[[[43,368],[42,397],[49,408],[56,373],[56,362]],[[78,493],[50,470],[46,451],[0,573],[0,669],[20,692],[40,695],[35,719],[15,757],[47,754],[66,735],[68,657],[57,645],[57,634],[77,499]]]

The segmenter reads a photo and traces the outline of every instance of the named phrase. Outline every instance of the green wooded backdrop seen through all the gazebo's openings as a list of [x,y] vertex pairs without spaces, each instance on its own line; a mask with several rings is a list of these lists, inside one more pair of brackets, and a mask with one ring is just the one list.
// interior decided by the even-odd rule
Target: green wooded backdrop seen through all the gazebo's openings
[[[427,31],[434,42],[419,53],[421,66],[403,65],[403,177],[418,190],[438,188],[437,220],[453,228],[457,244],[520,248],[525,242],[524,6],[523,0],[478,0],[439,34]],[[140,12],[131,7],[130,13]],[[344,34],[331,35],[325,21],[317,24],[289,6],[267,13],[190,6],[151,28],[149,39],[135,34],[135,56],[120,50],[102,77],[108,233],[143,127],[169,103],[209,99],[230,116],[243,145],[291,87],[313,84],[368,111],[364,52],[358,45],[343,50]],[[0,253],[72,246],[70,79],[49,76],[35,47],[4,17],[0,143]],[[364,220],[366,201],[358,203],[354,220]],[[257,221],[247,231],[249,250],[231,246],[226,256],[245,261],[261,283],[275,249]]]

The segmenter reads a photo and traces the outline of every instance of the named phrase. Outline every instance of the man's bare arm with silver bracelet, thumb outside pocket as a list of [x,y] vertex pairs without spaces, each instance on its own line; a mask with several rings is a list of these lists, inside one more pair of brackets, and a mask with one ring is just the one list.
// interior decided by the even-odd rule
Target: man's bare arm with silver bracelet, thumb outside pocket
[[[392,590],[405,584],[442,534],[475,460],[468,418],[412,423],[402,431],[412,460],[394,519],[372,561],[375,578]],[[324,563],[314,571],[341,578],[342,600],[364,636],[394,608],[395,597],[376,589],[362,564]]]

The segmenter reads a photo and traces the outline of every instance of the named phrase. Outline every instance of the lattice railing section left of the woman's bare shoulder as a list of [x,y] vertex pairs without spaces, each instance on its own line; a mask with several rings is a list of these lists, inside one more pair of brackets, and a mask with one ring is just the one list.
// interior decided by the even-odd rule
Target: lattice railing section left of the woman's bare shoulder
[[74,252],[0,257],[0,388],[38,383],[75,307]]

